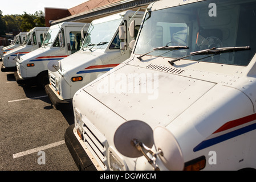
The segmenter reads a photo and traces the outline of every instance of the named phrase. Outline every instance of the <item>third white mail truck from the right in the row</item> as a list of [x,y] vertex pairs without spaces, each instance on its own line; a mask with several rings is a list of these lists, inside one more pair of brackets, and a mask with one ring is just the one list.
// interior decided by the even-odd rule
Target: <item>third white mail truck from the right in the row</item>
[[[42,46],[15,59],[17,72],[14,73],[18,84],[38,84],[44,88],[48,84],[47,63],[59,61],[79,51],[82,34],[86,34],[90,23],[63,22],[51,26]],[[83,31],[81,31],[83,29]]]

